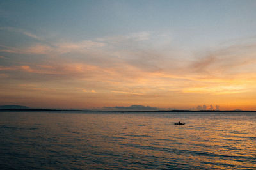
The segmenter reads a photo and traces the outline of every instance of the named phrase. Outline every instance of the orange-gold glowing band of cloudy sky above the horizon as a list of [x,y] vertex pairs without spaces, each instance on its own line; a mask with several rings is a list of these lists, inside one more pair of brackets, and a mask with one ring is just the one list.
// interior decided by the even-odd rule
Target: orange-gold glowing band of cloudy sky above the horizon
[[[135,37],[134,43],[148,40],[136,35],[127,37],[129,41]],[[225,52],[217,49],[200,58],[182,56],[182,60],[173,54],[185,52],[119,47],[127,44],[127,37],[4,47],[1,52],[40,56],[42,60],[38,57],[33,62],[0,66],[1,104],[47,108],[136,104],[175,109],[220,105],[220,109],[256,109],[254,44],[227,47]]]

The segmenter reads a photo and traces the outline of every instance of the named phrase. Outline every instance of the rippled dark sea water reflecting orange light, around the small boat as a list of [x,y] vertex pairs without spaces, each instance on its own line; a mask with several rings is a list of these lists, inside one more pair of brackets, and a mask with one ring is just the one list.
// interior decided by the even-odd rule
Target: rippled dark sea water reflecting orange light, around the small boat
[[0,112],[0,169],[256,169],[256,114]]

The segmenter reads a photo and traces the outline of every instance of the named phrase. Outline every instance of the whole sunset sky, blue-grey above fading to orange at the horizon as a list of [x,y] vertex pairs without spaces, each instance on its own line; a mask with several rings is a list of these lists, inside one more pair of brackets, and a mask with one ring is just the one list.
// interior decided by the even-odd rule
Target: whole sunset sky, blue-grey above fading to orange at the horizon
[[255,9],[248,0],[2,0],[0,105],[255,110]]

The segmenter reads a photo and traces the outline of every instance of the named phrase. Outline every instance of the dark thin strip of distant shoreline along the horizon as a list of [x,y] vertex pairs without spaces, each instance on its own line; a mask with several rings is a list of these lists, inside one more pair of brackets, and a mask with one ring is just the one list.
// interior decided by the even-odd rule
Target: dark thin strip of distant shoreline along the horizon
[[256,111],[237,111],[237,110],[200,110],[200,111],[191,111],[191,110],[157,110],[157,111],[131,111],[131,110],[79,110],[79,109],[0,109],[0,112],[3,111],[56,111],[56,112],[256,112]]

